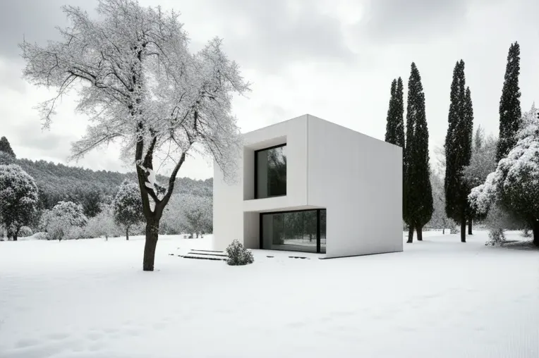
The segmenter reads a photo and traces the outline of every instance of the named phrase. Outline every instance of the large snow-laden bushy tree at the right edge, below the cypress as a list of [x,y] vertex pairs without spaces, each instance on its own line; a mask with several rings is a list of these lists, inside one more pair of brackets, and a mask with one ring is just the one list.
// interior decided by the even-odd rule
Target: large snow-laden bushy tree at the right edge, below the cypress
[[539,246],[539,118],[535,106],[523,114],[516,137],[518,142],[507,158],[499,161],[485,183],[472,189],[468,201],[479,213],[501,204],[527,221],[533,229],[533,243]]

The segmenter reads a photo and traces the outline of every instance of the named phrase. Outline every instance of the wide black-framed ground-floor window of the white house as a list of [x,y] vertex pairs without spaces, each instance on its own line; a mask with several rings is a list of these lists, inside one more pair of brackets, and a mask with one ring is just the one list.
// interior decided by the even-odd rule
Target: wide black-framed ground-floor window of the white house
[[326,252],[326,209],[260,214],[260,248]]

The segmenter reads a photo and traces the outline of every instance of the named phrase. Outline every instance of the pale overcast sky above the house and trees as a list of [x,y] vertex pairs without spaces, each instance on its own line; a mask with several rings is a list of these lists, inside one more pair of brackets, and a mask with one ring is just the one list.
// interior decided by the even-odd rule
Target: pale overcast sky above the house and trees
[[[87,122],[64,98],[52,128],[42,131],[33,107],[50,97],[21,78],[18,42],[46,43],[66,25],[60,6],[90,13],[95,0],[0,1],[0,136],[19,158],[66,163],[71,141]],[[253,82],[234,100],[242,132],[310,113],[384,138],[389,88],[416,62],[425,89],[430,147],[447,132],[454,64],[466,63],[474,125],[497,135],[507,51],[521,45],[521,106],[539,99],[538,0],[140,0],[181,13],[193,51],[214,36]],[[432,154],[431,154],[432,156]],[[73,165],[132,170],[114,147]],[[210,164],[191,158],[179,176],[210,178]]]

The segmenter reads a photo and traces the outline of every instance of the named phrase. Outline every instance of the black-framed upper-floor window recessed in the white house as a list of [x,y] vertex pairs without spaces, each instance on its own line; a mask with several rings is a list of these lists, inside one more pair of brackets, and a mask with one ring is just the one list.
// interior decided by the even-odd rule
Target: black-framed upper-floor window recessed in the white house
[[286,144],[255,151],[255,199],[286,195]]

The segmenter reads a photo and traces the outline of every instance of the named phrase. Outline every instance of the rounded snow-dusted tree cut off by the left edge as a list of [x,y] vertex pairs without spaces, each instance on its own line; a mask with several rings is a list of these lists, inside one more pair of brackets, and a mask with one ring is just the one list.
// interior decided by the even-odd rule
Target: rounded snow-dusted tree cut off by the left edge
[[0,165],[0,222],[8,237],[17,240],[35,215],[37,200],[37,185],[28,173],[14,164]]

